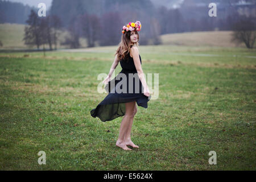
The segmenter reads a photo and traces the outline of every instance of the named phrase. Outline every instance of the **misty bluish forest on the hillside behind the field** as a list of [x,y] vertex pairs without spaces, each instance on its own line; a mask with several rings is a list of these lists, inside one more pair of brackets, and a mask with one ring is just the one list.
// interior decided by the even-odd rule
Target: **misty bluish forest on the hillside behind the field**
[[[47,16],[59,18],[62,30],[70,32],[63,44],[70,44],[72,48],[79,47],[77,41],[81,37],[87,39],[89,47],[95,46],[95,42],[100,46],[116,45],[120,41],[122,26],[136,20],[142,23],[140,44],[157,45],[161,44],[159,36],[164,34],[233,30],[233,24],[243,16],[238,8],[245,7],[231,6],[231,3],[239,2],[236,0],[225,2],[217,0],[217,17],[209,17],[210,1],[184,0],[182,2],[179,8],[171,9],[170,6],[163,6],[163,4],[156,6],[154,0],[53,0]],[[254,1],[248,2],[254,3]],[[255,3],[246,6],[250,11],[255,11]],[[25,22],[24,24],[31,15],[31,10],[35,13],[38,11],[30,9],[29,6],[23,6],[22,3],[7,1],[0,1],[0,10],[0,23]],[[253,15],[253,13],[249,14],[247,18],[255,20]]]

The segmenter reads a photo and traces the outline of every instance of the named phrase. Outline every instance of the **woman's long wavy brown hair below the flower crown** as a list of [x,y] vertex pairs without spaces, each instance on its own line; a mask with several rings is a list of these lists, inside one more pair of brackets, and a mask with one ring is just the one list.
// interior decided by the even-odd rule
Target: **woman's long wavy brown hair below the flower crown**
[[[135,31],[135,34],[138,35],[138,41],[136,43],[134,43],[136,46],[139,46],[139,33],[138,31]],[[130,40],[130,36],[131,36],[131,31],[125,31],[125,33],[122,35],[122,39],[121,42],[118,44],[118,49],[115,52],[115,55],[117,55],[117,59],[118,60],[122,60],[122,59],[126,59],[127,56],[130,55],[131,52],[131,40]]]

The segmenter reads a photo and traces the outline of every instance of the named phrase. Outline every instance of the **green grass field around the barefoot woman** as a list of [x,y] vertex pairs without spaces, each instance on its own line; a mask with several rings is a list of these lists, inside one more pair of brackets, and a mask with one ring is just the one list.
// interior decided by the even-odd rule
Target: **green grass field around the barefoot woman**
[[159,98],[138,107],[131,139],[140,148],[124,151],[115,146],[122,118],[90,116],[115,48],[0,53],[1,170],[256,169],[256,59],[246,57],[255,49],[141,46],[144,73],[159,73]]

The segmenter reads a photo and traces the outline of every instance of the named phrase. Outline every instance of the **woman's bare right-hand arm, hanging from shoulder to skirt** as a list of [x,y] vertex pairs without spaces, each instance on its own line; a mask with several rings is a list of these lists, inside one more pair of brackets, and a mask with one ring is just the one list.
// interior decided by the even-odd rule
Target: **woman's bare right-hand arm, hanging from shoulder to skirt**
[[134,65],[137,69],[139,79],[141,80],[142,86],[144,88],[144,95],[149,96],[149,90],[141,67],[141,61],[139,60],[139,50],[137,47],[133,46],[131,48],[131,55],[133,56]]

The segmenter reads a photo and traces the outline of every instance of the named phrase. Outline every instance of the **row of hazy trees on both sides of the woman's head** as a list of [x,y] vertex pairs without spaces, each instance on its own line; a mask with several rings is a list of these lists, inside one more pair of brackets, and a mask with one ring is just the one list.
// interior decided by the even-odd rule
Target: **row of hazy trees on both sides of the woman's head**
[[[122,36],[123,20],[121,13],[109,12],[100,17],[95,14],[84,13],[71,19],[67,28],[69,35],[61,45],[69,45],[71,48],[79,48],[79,38],[85,38],[87,47],[114,46],[117,45]],[[140,40],[141,45],[160,44],[160,24],[156,18],[148,18],[148,26],[144,22],[143,34]]]

